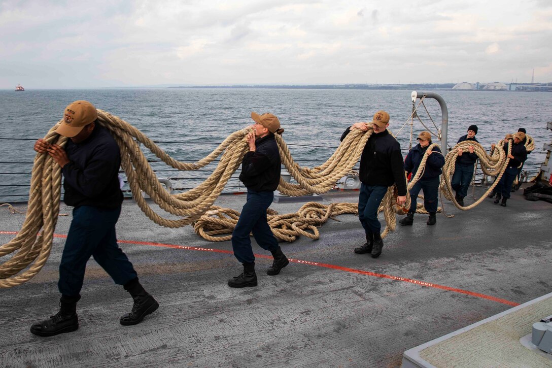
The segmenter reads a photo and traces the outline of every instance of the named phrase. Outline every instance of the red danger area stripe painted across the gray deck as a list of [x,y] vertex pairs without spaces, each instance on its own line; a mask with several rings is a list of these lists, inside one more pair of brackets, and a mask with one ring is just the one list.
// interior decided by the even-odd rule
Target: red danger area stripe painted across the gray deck
[[[0,234],[15,235],[15,234],[17,234],[17,232],[3,232],[3,231],[0,231]],[[55,238],[67,238],[67,235],[54,234],[54,237]],[[233,252],[230,251],[230,250],[214,249],[214,248],[203,248],[203,247],[199,247],[199,246],[187,246],[187,245],[164,244],[164,243],[151,243],[149,241],[134,241],[134,240],[118,240],[118,243],[161,246],[163,248],[173,248],[173,249],[201,250],[201,251],[209,251],[209,252],[214,252],[214,253],[225,253],[225,254],[232,254],[233,255]],[[272,256],[263,255],[263,254],[255,254],[255,256],[257,258],[272,259]],[[463,289],[459,289],[459,288],[455,288],[455,287],[439,285],[437,283],[420,281],[420,280],[413,280],[412,278],[386,275],[386,274],[378,274],[376,272],[351,269],[349,267],[330,265],[330,264],[320,263],[320,262],[304,261],[304,260],[293,259],[293,258],[289,258],[289,261],[294,262],[294,263],[298,263],[298,264],[324,267],[326,269],[333,269],[333,270],[338,270],[338,271],[343,271],[343,272],[351,272],[352,274],[373,276],[373,277],[380,277],[380,278],[389,278],[390,280],[410,282],[410,283],[420,285],[420,286],[433,287],[433,288],[440,289],[440,290],[452,291],[452,292],[455,292],[455,293],[460,293],[460,294],[465,294],[465,295],[469,295],[469,296],[473,296],[473,297],[477,297],[477,298],[487,299],[487,300],[490,300],[490,301],[493,301],[493,302],[507,304],[508,306],[512,306],[512,307],[519,306],[519,303],[511,302],[511,301],[508,301],[506,299],[496,298],[496,297],[493,297],[493,296],[490,296],[490,295],[476,293],[476,292],[463,290]]]

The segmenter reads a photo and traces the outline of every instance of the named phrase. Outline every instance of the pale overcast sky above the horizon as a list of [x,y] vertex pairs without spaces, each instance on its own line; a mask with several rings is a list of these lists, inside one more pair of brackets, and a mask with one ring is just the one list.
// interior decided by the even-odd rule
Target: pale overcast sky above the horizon
[[552,82],[552,0],[0,0],[0,88]]

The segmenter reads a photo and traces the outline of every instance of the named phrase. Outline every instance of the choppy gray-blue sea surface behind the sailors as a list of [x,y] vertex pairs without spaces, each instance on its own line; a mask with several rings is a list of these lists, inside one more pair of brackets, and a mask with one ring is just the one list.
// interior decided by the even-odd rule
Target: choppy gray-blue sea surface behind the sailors
[[[471,124],[479,128],[476,138],[486,149],[505,134],[523,127],[535,140],[535,150],[525,167],[529,174],[537,173],[545,157],[543,144],[550,143],[552,138],[552,132],[546,130],[546,122],[552,120],[552,93],[427,92],[440,94],[447,103],[449,146],[454,146]],[[349,125],[371,120],[379,109],[389,112],[389,129],[397,135],[406,155],[410,125],[404,127],[404,124],[412,111],[410,93],[409,90],[222,88],[0,90],[0,202],[28,198],[34,140],[42,138],[61,119],[67,104],[77,99],[91,101],[97,108],[134,125],[160,142],[158,145],[169,155],[186,162],[208,155],[229,134],[250,125],[252,111],[271,112],[278,116],[285,129],[283,138],[294,159],[301,166],[314,167],[332,154]],[[426,99],[425,104],[431,119],[440,128],[439,104],[434,99]],[[418,113],[424,124],[436,132],[438,128],[433,126],[423,107]],[[422,130],[426,128],[415,119],[414,139]],[[155,159],[151,154],[147,157]],[[209,175],[205,170],[174,171],[162,163],[154,162],[152,166],[160,178],[178,177],[172,181],[181,190],[198,185]],[[240,190],[243,186],[236,178],[225,188],[227,192]]]

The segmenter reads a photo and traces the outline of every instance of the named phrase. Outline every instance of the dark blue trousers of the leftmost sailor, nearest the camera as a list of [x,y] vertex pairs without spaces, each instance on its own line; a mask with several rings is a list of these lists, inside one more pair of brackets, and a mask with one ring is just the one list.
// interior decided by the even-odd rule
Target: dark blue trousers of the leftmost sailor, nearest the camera
[[138,277],[134,267],[117,245],[115,224],[121,206],[105,209],[79,206],[73,209],[73,220],[60,263],[62,295],[77,296],[81,292],[86,263],[91,256],[118,285]]

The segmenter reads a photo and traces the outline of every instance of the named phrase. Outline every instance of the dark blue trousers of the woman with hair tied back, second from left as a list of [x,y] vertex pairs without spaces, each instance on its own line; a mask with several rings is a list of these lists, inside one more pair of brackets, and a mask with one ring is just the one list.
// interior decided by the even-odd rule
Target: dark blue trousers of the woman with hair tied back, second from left
[[255,261],[251,248],[250,233],[257,244],[266,250],[278,249],[278,240],[272,234],[267,222],[267,208],[274,199],[274,192],[256,192],[247,190],[247,202],[242,208],[238,223],[232,232],[232,249],[241,263]]

